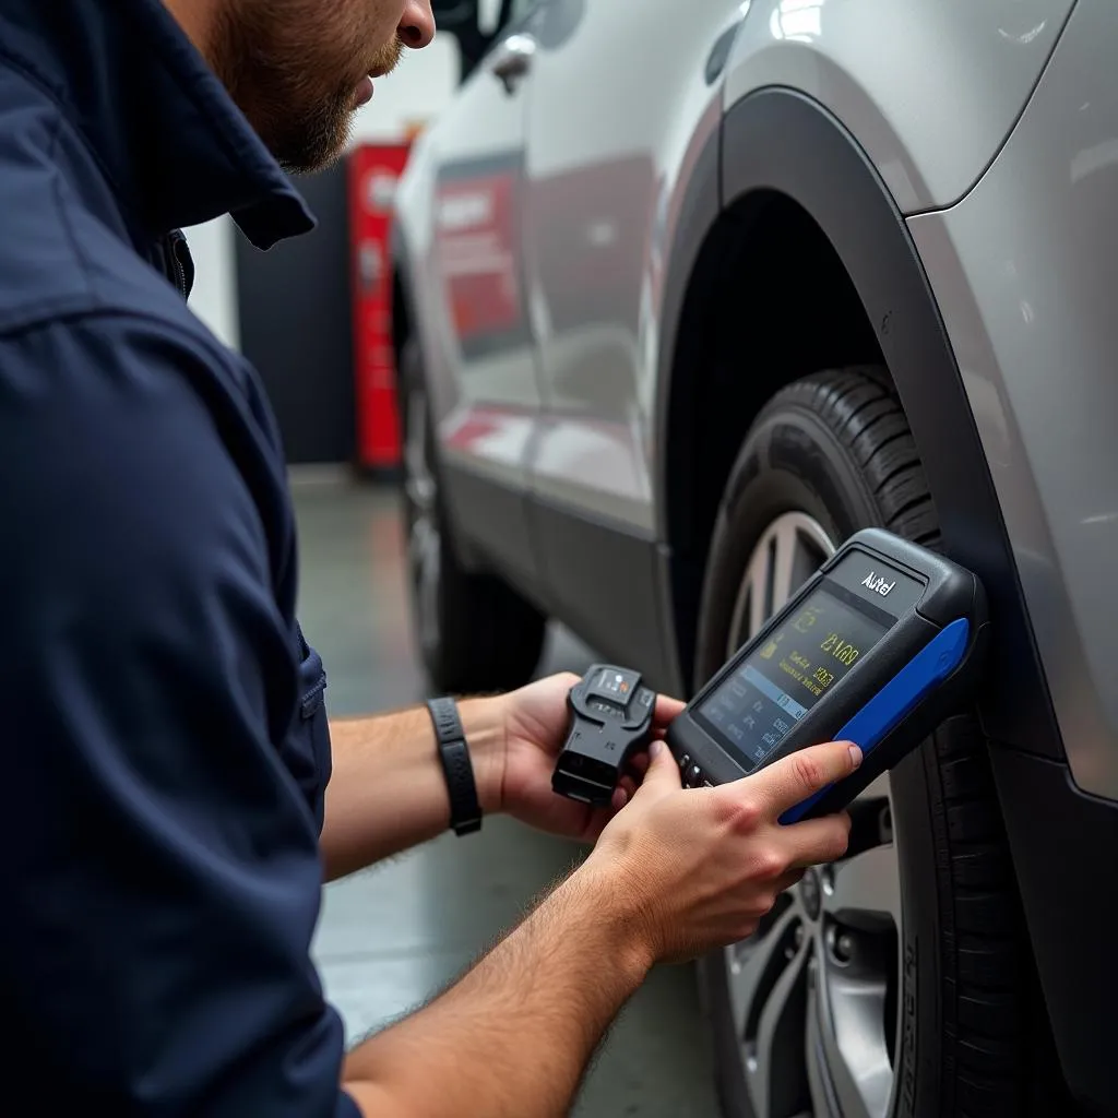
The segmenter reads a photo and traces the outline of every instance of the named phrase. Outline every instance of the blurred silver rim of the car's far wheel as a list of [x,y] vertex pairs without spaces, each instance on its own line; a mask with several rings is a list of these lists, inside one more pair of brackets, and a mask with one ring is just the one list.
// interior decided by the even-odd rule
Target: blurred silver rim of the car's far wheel
[[408,574],[415,603],[416,632],[425,659],[438,647],[438,587],[443,537],[438,520],[438,482],[432,459],[427,397],[410,388],[404,410],[404,500],[407,504]]

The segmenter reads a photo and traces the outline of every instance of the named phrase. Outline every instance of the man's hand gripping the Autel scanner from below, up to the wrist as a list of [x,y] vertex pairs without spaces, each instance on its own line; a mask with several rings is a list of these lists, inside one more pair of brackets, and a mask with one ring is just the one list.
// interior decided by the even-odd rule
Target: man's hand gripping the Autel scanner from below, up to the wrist
[[784,825],[780,815],[861,764],[849,742],[814,746],[718,788],[684,790],[654,743],[632,802],[581,869],[623,934],[651,959],[683,961],[752,935],[777,897],[811,866],[846,851],[850,817]]

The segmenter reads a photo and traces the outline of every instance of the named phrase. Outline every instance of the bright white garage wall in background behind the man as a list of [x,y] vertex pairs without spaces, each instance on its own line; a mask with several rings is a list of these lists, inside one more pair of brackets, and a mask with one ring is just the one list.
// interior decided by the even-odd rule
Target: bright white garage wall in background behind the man
[[[372,101],[357,114],[353,143],[391,143],[432,121],[458,84],[458,46],[449,35],[426,50],[407,51],[396,73],[381,78]],[[239,344],[234,238],[229,218],[186,230],[197,277],[190,305],[227,345]],[[312,234],[313,236],[313,234]]]

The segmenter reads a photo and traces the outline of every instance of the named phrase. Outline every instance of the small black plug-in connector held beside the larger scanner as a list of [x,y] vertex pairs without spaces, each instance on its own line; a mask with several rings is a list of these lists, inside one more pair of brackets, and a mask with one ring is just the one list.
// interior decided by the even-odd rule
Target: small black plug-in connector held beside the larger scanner
[[656,694],[641,673],[595,664],[570,689],[567,741],[551,774],[560,796],[605,807],[626,764],[648,745]]

